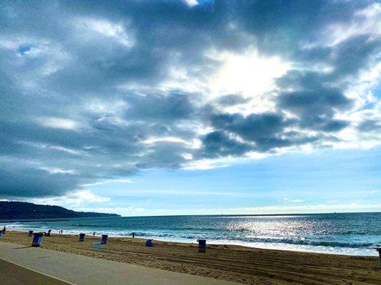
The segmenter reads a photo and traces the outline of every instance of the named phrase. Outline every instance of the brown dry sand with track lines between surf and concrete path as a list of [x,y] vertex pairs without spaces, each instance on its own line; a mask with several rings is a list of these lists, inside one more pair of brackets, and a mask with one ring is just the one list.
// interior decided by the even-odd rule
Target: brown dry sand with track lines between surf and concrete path
[[[252,249],[232,245],[207,246],[199,253],[197,244],[157,242],[145,247],[143,239],[109,238],[101,250],[94,249],[99,237],[52,234],[42,246],[60,252],[81,254],[243,284],[381,284],[377,257],[348,257],[335,254]],[[26,232],[6,232],[2,242],[31,245]]]

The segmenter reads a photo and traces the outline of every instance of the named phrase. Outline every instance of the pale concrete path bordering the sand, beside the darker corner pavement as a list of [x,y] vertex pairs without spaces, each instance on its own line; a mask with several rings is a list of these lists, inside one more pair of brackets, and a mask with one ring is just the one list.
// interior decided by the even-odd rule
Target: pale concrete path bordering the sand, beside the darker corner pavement
[[78,285],[237,285],[229,281],[7,242],[0,242],[0,258]]

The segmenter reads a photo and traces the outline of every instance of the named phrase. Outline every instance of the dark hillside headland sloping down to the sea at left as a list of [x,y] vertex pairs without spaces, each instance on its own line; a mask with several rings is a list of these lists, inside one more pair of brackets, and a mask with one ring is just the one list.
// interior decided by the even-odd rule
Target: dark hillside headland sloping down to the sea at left
[[4,219],[61,219],[81,217],[120,217],[119,214],[76,212],[59,206],[28,202],[0,201],[0,220]]

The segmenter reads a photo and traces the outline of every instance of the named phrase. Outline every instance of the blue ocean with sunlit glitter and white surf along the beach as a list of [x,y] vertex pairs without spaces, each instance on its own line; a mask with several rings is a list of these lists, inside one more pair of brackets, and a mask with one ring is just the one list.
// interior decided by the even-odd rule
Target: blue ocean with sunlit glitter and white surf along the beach
[[62,221],[11,222],[8,229],[84,232],[111,237],[135,237],[172,242],[238,244],[263,249],[287,249],[377,256],[381,245],[381,212],[242,216],[99,217]]

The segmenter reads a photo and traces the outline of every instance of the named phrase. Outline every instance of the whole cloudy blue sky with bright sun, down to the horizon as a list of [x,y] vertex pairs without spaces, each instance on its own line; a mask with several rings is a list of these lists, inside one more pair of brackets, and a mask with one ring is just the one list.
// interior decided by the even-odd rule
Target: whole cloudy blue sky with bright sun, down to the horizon
[[381,2],[0,1],[0,199],[381,211]]

